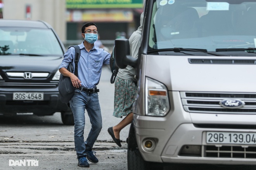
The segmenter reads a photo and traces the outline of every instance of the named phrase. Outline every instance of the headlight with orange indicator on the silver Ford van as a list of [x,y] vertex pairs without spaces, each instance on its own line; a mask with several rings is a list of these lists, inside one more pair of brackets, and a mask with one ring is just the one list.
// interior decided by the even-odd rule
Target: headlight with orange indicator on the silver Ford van
[[167,88],[163,83],[146,77],[145,113],[147,116],[165,116],[170,110]]

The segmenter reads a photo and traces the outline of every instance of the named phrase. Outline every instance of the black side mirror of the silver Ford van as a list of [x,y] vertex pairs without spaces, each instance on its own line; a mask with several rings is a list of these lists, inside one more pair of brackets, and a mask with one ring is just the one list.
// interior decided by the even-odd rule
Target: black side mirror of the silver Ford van
[[126,68],[127,65],[130,65],[134,68],[137,67],[138,58],[133,58],[130,56],[130,44],[128,39],[116,39],[114,50],[116,64],[119,68]]

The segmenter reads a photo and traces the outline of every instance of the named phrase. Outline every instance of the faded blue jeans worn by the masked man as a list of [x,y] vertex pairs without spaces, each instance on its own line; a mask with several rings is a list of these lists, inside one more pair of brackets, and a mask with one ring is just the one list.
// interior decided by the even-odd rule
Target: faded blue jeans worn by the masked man
[[[102,129],[102,117],[98,93],[87,93],[76,89],[70,100],[74,115],[74,144],[78,158],[86,156],[85,150],[92,150],[93,144]],[[84,141],[85,109],[87,110],[92,128]]]

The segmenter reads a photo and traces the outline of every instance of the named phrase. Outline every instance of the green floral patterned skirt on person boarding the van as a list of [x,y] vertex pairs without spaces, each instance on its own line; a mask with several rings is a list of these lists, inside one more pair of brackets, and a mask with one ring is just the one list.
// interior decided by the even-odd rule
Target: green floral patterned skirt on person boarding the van
[[137,85],[133,81],[116,77],[113,116],[122,118],[133,112],[136,92]]

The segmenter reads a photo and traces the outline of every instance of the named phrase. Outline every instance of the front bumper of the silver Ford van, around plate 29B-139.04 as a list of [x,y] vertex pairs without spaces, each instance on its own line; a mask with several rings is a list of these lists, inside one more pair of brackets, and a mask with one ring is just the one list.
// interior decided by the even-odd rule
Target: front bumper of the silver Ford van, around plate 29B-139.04
[[[197,128],[192,123],[180,124],[177,128],[165,128],[164,118],[154,117],[154,125],[145,124],[145,116],[137,116],[134,122],[138,148],[145,161],[159,163],[202,163],[220,165],[256,165],[256,145],[213,145],[206,143],[206,132],[248,132],[248,129]],[[151,119],[151,118],[149,118]],[[153,120],[153,119],[152,119]],[[256,133],[256,130],[250,130]],[[153,150],[145,149],[145,140],[154,140]],[[195,153],[187,153],[189,147]],[[225,148],[225,150],[223,150]],[[237,148],[240,148],[237,150]],[[241,153],[234,156],[235,151]],[[254,150],[254,155],[250,155]],[[211,154],[209,154],[211,153]],[[223,154],[225,153],[225,154]],[[237,155],[237,154],[236,154]],[[251,157],[248,158],[247,157]],[[250,156],[249,156],[250,155]]]

